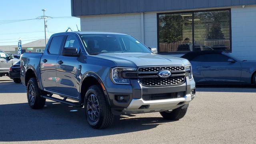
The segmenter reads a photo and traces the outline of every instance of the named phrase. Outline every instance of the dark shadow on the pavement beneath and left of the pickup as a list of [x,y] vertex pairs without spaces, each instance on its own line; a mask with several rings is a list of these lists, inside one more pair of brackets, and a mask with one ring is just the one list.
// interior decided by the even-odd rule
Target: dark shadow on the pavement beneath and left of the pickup
[[[70,112],[70,110],[75,112]],[[77,110],[77,111],[76,111]],[[46,102],[40,110],[27,103],[0,105],[0,141],[61,140],[124,134],[155,128],[162,117],[115,119],[104,130],[90,128],[83,108],[73,108],[56,102]]]

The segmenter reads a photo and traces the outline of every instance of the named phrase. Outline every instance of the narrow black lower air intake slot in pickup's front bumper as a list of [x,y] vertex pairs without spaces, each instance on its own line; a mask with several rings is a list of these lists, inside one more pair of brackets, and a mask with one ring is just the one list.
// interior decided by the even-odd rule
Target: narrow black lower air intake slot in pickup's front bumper
[[182,98],[184,97],[186,92],[172,92],[172,93],[164,93],[164,94],[143,94],[143,100],[164,100],[171,98]]

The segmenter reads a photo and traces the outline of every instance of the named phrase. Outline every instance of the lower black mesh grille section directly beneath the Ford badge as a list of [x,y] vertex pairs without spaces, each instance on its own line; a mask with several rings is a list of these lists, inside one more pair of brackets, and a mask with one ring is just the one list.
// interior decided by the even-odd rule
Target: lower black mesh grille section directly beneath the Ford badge
[[185,76],[175,76],[169,78],[140,78],[140,83],[146,86],[175,86],[185,81]]

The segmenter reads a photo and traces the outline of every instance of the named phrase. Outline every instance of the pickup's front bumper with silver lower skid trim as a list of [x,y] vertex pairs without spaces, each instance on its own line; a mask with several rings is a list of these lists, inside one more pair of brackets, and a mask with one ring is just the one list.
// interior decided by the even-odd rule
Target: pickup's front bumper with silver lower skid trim
[[[163,87],[147,87],[142,86],[138,80],[130,80],[131,85],[116,85],[115,88],[108,90],[108,97],[112,112],[125,112],[130,114],[146,113],[146,112],[161,112],[173,110],[180,106],[189,104],[194,99],[195,94],[190,94],[192,90],[195,92],[194,80],[186,81],[178,86],[163,86]],[[145,100],[145,94],[166,94],[184,92],[184,95],[179,98],[161,99],[161,100]],[[124,96],[125,102],[116,100],[117,96]]]

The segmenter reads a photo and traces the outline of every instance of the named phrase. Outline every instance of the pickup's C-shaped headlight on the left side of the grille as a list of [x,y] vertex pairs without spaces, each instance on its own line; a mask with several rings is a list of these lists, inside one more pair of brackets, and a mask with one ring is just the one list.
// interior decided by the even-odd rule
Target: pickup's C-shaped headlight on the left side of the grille
[[110,75],[112,78],[112,81],[114,82],[114,84],[130,84],[130,80],[129,79],[125,79],[122,76],[122,73],[125,71],[136,71],[136,68],[112,68]]

